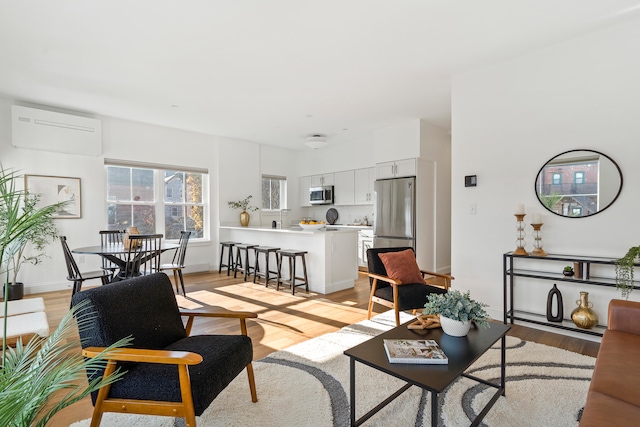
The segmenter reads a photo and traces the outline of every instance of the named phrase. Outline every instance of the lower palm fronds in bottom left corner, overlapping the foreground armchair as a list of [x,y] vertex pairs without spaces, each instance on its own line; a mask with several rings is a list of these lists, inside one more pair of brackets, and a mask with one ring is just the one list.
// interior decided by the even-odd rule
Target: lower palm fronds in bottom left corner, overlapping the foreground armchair
[[[124,375],[118,369],[106,378],[100,374],[86,380],[86,374],[98,374],[106,367],[108,352],[129,345],[131,338],[114,343],[96,358],[85,359],[73,321],[77,313],[86,312],[84,302],[68,311],[49,337],[34,337],[26,345],[19,339],[15,348],[8,349],[0,367],[0,425],[44,427],[60,410]],[[88,311],[78,316],[78,329],[93,320]]]

